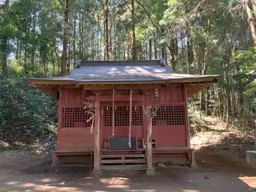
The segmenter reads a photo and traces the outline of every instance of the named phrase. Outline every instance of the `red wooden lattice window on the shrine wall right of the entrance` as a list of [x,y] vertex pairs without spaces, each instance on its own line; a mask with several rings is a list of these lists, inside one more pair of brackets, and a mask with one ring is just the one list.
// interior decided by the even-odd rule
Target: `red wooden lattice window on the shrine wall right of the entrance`
[[184,125],[185,113],[183,105],[159,106],[152,125]]

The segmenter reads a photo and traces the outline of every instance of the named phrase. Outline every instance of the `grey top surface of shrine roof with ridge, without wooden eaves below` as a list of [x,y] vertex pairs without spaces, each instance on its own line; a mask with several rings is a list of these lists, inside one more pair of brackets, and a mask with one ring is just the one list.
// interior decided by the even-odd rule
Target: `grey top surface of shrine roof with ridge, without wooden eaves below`
[[[127,63],[127,64],[126,64]],[[99,61],[82,62],[70,75],[41,80],[70,80],[86,82],[104,81],[162,81],[217,77],[218,75],[177,74],[169,66],[161,66],[160,61]]]

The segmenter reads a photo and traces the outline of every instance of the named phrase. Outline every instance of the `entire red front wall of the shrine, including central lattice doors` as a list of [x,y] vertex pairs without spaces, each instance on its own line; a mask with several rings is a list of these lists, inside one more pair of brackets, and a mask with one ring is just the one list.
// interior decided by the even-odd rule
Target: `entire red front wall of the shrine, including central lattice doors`
[[[156,147],[187,146],[186,140],[186,99],[183,87],[165,87],[159,90],[155,97],[155,90],[150,90],[145,103],[159,105],[153,118],[152,138],[156,139]],[[63,89],[59,100],[58,150],[92,149],[94,147],[94,133],[91,133],[90,117],[84,114],[83,102],[90,96],[81,89]],[[115,101],[115,136],[127,136],[129,132],[129,101]],[[118,104],[117,104],[118,103]],[[136,109],[135,109],[136,106]],[[133,126],[131,135],[137,136],[139,142],[146,138],[146,123],[143,119],[141,102],[133,101]],[[101,147],[112,136],[112,102],[101,103]],[[141,145],[140,145],[141,146]],[[140,147],[139,146],[139,147]],[[155,150],[157,151],[157,149]],[[155,160],[180,159],[187,160],[185,153],[155,154]],[[66,159],[65,159],[66,158]],[[64,157],[63,161],[69,161]],[[77,157],[80,161],[81,157]]]

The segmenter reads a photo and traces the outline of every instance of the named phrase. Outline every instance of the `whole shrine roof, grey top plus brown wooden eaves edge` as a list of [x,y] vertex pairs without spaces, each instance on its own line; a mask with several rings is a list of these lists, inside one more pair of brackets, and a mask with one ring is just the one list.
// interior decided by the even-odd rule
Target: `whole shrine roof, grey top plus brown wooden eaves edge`
[[[26,79],[35,84],[136,84],[136,83],[215,83],[220,75],[177,74],[160,60],[154,61],[81,61],[67,76]],[[204,86],[205,87],[205,86]],[[198,92],[198,91],[197,91]]]

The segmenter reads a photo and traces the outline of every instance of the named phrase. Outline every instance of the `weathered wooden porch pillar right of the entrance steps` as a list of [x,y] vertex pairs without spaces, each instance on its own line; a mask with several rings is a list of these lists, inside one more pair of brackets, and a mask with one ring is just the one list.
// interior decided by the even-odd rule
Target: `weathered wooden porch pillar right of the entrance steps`
[[146,156],[147,156],[147,168],[146,175],[155,175],[155,169],[153,167],[152,158],[152,111],[150,106],[150,94],[146,92]]

